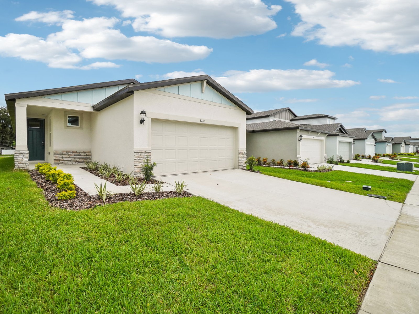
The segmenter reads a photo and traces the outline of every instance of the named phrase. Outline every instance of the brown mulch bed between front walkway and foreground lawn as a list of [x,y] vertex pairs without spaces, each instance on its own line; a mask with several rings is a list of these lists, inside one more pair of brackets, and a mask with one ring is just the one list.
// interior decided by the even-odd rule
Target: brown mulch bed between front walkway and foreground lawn
[[113,204],[125,201],[145,201],[145,200],[159,200],[163,198],[172,197],[189,197],[191,193],[183,191],[182,194],[178,194],[175,191],[158,192],[158,193],[143,193],[140,196],[135,196],[134,193],[117,193],[108,196],[106,202],[99,198],[98,195],[89,195],[81,188],[76,185],[76,197],[70,200],[58,200],[55,195],[60,192],[57,186],[51,181],[45,180],[44,175],[41,175],[36,170],[29,170],[32,180],[35,181],[38,188],[44,190],[45,199],[51,206],[59,207],[67,210],[80,210],[85,208],[93,208],[96,206],[102,206],[106,204]]

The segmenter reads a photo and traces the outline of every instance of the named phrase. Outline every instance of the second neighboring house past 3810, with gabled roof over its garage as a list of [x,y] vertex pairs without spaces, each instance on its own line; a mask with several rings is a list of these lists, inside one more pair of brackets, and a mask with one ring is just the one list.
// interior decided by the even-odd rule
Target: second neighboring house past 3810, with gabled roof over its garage
[[318,125],[302,124],[302,126],[330,132],[326,137],[327,157],[333,156],[335,160],[337,160],[338,156],[342,156],[344,160],[353,159],[353,143],[355,136],[350,135],[341,123]]

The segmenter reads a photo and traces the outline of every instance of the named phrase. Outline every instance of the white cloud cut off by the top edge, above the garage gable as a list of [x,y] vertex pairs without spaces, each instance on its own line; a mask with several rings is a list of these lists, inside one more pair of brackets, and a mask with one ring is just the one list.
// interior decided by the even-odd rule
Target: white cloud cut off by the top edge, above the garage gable
[[135,31],[155,33],[168,38],[199,36],[233,38],[258,35],[277,27],[272,17],[280,5],[261,0],[90,0],[96,5],[111,5],[124,18],[134,18]]

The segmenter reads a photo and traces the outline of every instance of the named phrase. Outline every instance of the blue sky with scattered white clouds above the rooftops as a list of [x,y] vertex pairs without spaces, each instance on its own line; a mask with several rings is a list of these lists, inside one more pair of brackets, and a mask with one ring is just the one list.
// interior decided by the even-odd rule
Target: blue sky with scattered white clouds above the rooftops
[[208,74],[254,111],[419,137],[417,0],[1,2],[1,94]]

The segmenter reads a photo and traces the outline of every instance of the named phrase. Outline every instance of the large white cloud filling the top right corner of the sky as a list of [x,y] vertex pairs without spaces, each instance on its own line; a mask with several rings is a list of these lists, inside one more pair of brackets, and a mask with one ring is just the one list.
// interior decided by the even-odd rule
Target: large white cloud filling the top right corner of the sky
[[419,51],[417,0],[287,0],[301,22],[294,36],[327,46],[360,46],[374,51]]

